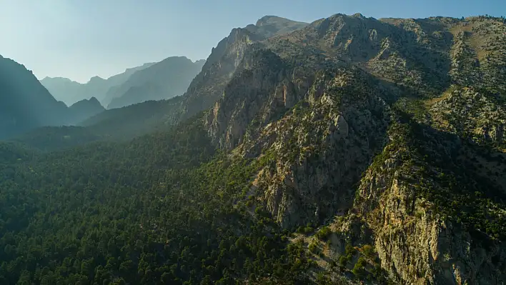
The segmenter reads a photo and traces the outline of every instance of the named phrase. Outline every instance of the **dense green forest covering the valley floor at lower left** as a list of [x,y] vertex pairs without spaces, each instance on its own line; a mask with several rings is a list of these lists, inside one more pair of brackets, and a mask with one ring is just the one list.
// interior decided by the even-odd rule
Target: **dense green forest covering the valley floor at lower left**
[[0,283],[303,282],[302,249],[244,203],[254,164],[215,153],[200,126],[49,153],[0,144]]

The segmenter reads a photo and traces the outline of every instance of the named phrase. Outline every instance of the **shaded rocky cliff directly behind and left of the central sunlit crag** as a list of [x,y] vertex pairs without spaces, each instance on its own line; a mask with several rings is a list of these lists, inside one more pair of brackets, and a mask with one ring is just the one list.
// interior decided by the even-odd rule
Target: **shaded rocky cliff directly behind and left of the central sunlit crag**
[[265,125],[301,97],[292,83],[289,66],[271,51],[255,51],[243,64],[207,119],[209,135],[226,149],[242,143],[254,119]]

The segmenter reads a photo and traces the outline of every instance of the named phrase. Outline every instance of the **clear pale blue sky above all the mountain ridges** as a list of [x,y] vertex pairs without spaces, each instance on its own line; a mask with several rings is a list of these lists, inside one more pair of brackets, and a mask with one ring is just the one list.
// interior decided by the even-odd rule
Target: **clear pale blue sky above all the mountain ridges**
[[506,16],[504,0],[0,0],[0,55],[39,79],[85,83],[169,56],[206,59],[231,29],[265,15],[311,22],[332,14],[374,18]]

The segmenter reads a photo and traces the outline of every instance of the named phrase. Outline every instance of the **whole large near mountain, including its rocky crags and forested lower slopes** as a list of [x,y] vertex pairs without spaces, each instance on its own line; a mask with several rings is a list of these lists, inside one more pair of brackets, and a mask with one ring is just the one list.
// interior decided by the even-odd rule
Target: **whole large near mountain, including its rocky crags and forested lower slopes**
[[1,143],[0,283],[501,284],[505,20],[273,26],[66,130],[149,134]]

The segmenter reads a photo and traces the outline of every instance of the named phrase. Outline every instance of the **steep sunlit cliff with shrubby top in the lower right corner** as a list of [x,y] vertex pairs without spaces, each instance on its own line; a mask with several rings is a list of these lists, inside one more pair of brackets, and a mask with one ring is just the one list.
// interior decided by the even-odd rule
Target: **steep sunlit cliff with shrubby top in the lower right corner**
[[480,161],[503,170],[505,154],[412,122],[389,134],[353,207],[374,232],[382,266],[400,283],[499,284],[506,184]]

